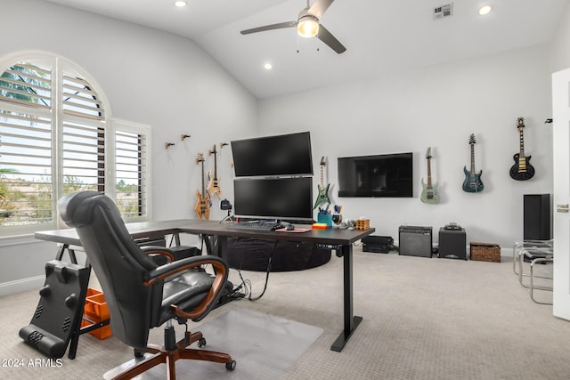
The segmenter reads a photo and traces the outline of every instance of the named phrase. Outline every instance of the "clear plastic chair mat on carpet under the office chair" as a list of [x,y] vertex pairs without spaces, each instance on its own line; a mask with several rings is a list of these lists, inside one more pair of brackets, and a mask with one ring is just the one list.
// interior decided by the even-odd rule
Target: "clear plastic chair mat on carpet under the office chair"
[[[245,309],[227,311],[193,331],[206,338],[205,350],[227,352],[237,362],[234,371],[224,364],[201,360],[176,360],[177,378],[267,379],[280,378],[305,350],[322,335],[322,328]],[[181,335],[181,334],[177,334]],[[198,347],[192,344],[191,348]],[[134,359],[108,371],[108,379],[134,365]],[[135,377],[164,379],[161,364]]]

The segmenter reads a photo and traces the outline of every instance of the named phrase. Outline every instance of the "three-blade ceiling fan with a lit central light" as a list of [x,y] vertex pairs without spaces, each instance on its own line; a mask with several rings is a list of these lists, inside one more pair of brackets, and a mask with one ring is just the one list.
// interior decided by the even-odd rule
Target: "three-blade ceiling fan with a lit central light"
[[313,6],[309,6],[309,0],[306,0],[306,7],[297,17],[296,21],[280,22],[279,24],[265,25],[264,27],[251,28],[241,30],[242,35],[251,33],[265,32],[266,30],[281,29],[281,28],[295,28],[299,36],[319,38],[323,43],[328,44],[329,47],[338,54],[344,53],[346,47],[341,44],[335,36],[330,34],[330,31],[325,28],[320,20],[324,12],[329,9],[330,4],[334,0],[316,0]]

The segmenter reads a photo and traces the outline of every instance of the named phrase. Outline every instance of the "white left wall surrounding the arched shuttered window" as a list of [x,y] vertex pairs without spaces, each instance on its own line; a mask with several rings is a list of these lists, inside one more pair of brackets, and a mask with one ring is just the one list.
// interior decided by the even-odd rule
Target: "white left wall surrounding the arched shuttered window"
[[[214,144],[255,135],[256,99],[186,38],[37,0],[2,0],[1,8],[9,32],[0,40],[0,57],[41,51],[85,69],[108,97],[112,117],[151,125],[154,219],[194,218],[201,187],[196,155],[203,152],[206,171],[213,170],[208,150]],[[182,133],[191,139],[180,141]],[[165,142],[176,145],[165,150]],[[230,153],[220,151],[218,176],[232,198]],[[224,215],[216,200],[211,218]],[[0,295],[41,276],[54,257],[54,244],[28,241],[0,241]]]

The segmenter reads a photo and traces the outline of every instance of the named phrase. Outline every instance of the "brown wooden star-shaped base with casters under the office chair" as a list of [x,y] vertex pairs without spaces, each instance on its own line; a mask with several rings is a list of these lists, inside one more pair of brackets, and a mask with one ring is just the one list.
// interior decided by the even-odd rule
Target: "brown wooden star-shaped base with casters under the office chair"
[[[170,328],[170,331],[168,328]],[[174,328],[165,328],[165,342],[168,342],[169,338],[167,336],[169,334],[174,334]],[[235,360],[232,360],[232,357],[227,353],[187,348],[190,344],[195,342],[199,342],[200,347],[206,344],[206,340],[202,336],[201,332],[191,334],[190,331],[186,331],[183,339],[178,341],[170,350],[161,348],[158,345],[150,344],[143,350],[135,351],[135,356],[140,357],[142,353],[150,353],[151,355],[143,355],[143,359],[135,361],[134,367],[127,368],[125,371],[111,378],[113,380],[132,379],[134,376],[141,375],[143,372],[164,363],[167,365],[167,379],[175,380],[175,361],[179,359],[206,360],[216,363],[225,363],[226,369],[235,369],[236,362]]]

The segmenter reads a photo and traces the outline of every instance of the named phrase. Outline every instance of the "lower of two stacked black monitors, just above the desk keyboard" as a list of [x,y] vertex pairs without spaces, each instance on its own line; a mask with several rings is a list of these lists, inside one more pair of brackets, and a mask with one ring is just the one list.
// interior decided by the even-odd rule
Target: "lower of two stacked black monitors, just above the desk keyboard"
[[241,178],[233,181],[235,215],[313,222],[313,178]]

